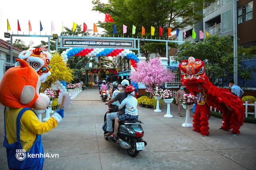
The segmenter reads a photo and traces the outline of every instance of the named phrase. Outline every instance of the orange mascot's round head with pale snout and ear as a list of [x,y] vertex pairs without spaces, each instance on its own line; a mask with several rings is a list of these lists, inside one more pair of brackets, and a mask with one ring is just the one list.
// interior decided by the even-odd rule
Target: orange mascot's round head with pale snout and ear
[[20,66],[6,71],[0,82],[0,103],[6,107],[30,107],[37,110],[49,106],[50,99],[40,93],[40,78],[38,73],[21,59]]

